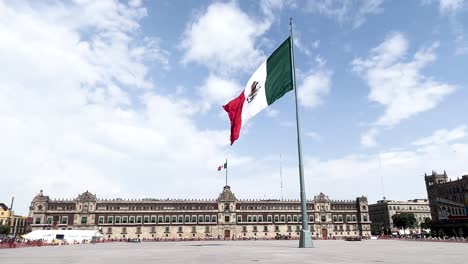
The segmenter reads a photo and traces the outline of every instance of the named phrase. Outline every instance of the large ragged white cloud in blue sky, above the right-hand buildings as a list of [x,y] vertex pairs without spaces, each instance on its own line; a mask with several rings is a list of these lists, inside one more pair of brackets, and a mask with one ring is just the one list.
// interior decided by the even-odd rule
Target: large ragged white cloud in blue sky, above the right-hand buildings
[[385,107],[376,125],[393,126],[402,120],[436,107],[455,91],[449,84],[434,81],[421,71],[435,61],[438,43],[416,52],[405,62],[408,41],[401,33],[389,35],[370,51],[369,57],[352,62],[353,70],[367,81],[369,100]]

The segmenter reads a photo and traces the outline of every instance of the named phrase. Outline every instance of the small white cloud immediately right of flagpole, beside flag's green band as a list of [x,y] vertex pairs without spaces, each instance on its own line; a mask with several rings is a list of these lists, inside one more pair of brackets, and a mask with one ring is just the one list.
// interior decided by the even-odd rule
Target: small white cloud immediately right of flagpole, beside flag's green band
[[322,103],[322,97],[330,92],[332,72],[324,67],[324,61],[318,61],[319,66],[301,77],[298,87],[299,103],[313,108]]

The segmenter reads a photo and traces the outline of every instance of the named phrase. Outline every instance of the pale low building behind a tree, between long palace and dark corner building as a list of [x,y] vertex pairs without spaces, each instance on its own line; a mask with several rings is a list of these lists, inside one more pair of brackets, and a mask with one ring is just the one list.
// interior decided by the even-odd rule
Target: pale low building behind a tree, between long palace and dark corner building
[[415,227],[407,229],[410,234],[420,234],[420,225],[431,218],[428,199],[413,199],[408,201],[379,200],[369,205],[369,215],[372,221],[373,234],[403,234],[405,230],[399,230],[393,225],[392,217],[399,213],[412,213],[416,218]]

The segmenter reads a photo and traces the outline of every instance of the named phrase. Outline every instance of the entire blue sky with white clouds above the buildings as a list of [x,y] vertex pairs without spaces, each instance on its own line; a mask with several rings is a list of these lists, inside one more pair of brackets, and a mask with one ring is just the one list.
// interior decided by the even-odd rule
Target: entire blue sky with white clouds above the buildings
[[293,93],[233,146],[221,108],[290,17],[308,198],[426,197],[424,173],[468,173],[467,16],[466,0],[0,0],[0,202],[216,198],[226,157],[238,198],[298,199]]

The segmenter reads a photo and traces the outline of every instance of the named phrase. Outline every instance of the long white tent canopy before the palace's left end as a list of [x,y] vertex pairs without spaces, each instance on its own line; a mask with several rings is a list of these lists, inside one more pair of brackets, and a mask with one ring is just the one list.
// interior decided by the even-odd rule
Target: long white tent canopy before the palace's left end
[[83,240],[91,241],[100,239],[102,234],[98,230],[35,230],[23,236],[30,240],[66,240],[67,242],[81,242]]

